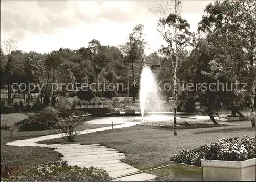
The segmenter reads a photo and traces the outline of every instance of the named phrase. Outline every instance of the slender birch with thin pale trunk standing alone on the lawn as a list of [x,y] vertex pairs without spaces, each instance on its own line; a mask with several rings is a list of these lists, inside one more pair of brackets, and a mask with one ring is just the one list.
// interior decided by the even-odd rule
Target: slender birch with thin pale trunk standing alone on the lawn
[[[168,57],[173,74],[169,74],[169,80],[173,80],[174,87],[174,135],[177,135],[177,68],[179,60],[179,53],[189,43],[191,32],[190,25],[180,15],[181,0],[173,0],[161,2],[156,9],[151,9],[158,17],[157,31],[162,36],[166,45],[162,45],[160,52]],[[168,74],[168,70],[162,68]]]

